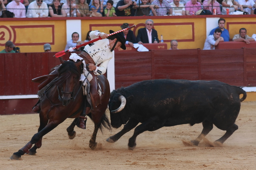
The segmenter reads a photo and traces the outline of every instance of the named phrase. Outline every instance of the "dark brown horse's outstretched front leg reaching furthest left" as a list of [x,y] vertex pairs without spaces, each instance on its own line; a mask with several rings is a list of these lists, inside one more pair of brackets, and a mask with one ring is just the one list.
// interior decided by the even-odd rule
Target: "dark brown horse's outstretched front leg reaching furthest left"
[[22,149],[18,150],[18,152],[14,152],[12,154],[12,156],[10,157],[11,159],[16,159],[19,160],[21,158],[22,155],[24,155],[25,153],[29,153],[29,149],[31,149],[32,145],[37,143],[38,141],[40,141],[40,139],[46,135],[47,133],[49,133],[50,131],[52,131],[52,129],[54,129],[55,127],[57,127],[60,123],[62,123],[65,119],[61,119],[61,120],[52,120],[49,121],[49,123],[38,133],[36,133],[31,141],[29,141]]

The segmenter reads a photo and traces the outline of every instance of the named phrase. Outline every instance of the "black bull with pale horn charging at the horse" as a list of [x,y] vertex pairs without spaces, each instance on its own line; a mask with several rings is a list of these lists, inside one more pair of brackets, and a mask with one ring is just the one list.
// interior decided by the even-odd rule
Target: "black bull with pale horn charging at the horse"
[[[243,94],[240,99],[239,95]],[[240,111],[240,102],[246,92],[237,86],[213,81],[146,80],[126,88],[114,90],[110,95],[109,109],[111,125],[124,128],[107,139],[114,143],[122,135],[135,128],[128,148],[136,147],[136,137],[144,131],[155,131],[161,127],[196,123],[203,125],[202,133],[190,141],[199,142],[213,128],[213,124],[226,133],[214,143],[222,145],[234,131]],[[128,122],[127,122],[128,121]]]

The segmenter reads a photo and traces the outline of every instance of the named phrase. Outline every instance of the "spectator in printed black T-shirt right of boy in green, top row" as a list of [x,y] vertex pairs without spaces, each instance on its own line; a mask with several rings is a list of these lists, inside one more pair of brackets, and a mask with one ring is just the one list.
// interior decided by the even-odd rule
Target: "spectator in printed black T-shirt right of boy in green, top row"
[[116,8],[116,16],[134,16],[134,8],[138,8],[138,6],[132,0],[120,0]]

